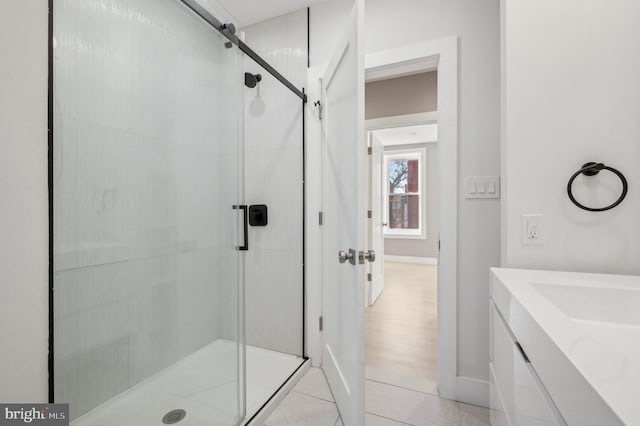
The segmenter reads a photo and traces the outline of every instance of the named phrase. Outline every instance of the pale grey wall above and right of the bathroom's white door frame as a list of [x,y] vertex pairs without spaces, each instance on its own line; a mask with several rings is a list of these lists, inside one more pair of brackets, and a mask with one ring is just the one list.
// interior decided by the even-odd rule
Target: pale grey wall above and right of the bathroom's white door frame
[[[344,4],[311,8],[311,65],[326,62],[344,25]],[[367,52],[459,36],[459,179],[499,174],[498,0],[367,0]],[[458,375],[488,380],[488,268],[500,263],[497,200],[465,200],[459,191]]]

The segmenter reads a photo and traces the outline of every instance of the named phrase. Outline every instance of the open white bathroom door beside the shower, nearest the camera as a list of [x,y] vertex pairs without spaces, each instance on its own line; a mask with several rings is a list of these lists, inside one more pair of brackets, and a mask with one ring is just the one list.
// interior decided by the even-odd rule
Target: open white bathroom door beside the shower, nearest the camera
[[[367,147],[364,138],[363,1],[322,78],[323,92],[323,369],[349,426],[364,425]],[[349,253],[351,259],[339,252]]]

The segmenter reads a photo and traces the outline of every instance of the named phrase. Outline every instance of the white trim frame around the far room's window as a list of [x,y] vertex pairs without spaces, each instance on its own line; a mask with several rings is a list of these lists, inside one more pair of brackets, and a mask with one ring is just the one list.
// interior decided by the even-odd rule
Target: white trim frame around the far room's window
[[[398,239],[427,239],[427,207],[426,207],[426,189],[427,189],[427,148],[423,144],[415,148],[393,149],[385,147],[383,153],[384,176],[383,176],[383,197],[384,197],[384,222],[389,223],[389,161],[397,159],[418,160],[418,229],[391,229],[389,226],[384,227],[385,238]],[[410,194],[416,194],[414,192]]]

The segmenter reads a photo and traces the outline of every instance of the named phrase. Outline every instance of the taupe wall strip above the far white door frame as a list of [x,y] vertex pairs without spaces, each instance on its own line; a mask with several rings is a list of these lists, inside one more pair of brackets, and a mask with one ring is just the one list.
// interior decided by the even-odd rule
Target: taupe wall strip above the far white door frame
[[367,83],[365,119],[435,111],[437,95],[437,71]]

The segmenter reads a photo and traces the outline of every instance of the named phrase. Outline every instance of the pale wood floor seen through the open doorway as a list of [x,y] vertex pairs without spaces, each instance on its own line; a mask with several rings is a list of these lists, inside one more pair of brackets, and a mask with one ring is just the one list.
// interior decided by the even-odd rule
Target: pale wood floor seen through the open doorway
[[436,381],[436,266],[384,264],[384,291],[365,312],[365,365]]

